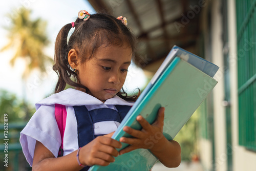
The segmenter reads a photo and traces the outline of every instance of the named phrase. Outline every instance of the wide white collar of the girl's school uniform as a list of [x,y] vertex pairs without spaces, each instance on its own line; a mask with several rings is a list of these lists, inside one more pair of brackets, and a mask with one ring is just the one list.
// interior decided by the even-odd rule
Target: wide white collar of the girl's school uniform
[[95,104],[107,104],[107,105],[133,105],[134,102],[128,102],[119,96],[114,96],[106,100],[104,103],[93,97],[87,93],[84,93],[75,89],[67,89],[63,90],[59,93],[53,94],[45,99],[40,100],[35,104],[36,110],[40,107],[40,105],[50,105],[50,104],[62,104],[62,105],[95,105]]

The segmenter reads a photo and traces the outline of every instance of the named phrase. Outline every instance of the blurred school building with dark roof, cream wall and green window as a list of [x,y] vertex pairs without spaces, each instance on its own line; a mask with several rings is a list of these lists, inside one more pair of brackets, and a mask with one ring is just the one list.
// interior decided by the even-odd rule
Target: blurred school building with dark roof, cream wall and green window
[[200,162],[204,170],[256,170],[256,0],[89,2],[130,18],[147,47],[137,61],[146,74],[174,44],[220,67],[198,109]]

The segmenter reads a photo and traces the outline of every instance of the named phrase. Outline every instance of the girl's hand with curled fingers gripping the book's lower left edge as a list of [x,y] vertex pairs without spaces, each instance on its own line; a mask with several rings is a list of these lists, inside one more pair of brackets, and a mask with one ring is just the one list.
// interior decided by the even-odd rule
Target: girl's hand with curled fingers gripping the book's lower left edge
[[[79,160],[83,165],[101,165],[106,166],[115,161],[118,156],[116,148],[122,145],[119,141],[112,139],[113,133],[99,136],[93,141],[84,145],[79,152]],[[113,157],[114,156],[114,157]]]

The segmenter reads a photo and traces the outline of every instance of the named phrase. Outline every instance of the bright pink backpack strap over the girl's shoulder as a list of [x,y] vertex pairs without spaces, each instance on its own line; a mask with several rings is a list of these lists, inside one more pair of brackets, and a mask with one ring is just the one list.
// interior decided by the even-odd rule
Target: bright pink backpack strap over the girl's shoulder
[[60,136],[61,136],[61,145],[59,148],[58,157],[63,156],[63,137],[66,127],[67,120],[67,110],[66,105],[55,104],[55,118],[58,124]]

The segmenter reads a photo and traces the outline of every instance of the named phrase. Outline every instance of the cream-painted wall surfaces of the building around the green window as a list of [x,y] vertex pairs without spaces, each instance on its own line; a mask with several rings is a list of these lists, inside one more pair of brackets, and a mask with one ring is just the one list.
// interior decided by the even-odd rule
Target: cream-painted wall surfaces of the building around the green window
[[[239,124],[238,124],[238,70],[237,70],[237,14],[236,0],[227,0],[228,15],[228,39],[229,39],[229,71],[230,71],[230,98],[231,98],[231,129],[232,129],[232,165],[234,171],[255,170],[256,169],[256,152],[248,151],[245,147],[239,145]],[[207,11],[211,11],[211,44],[205,44],[207,51],[211,46],[212,57],[211,62],[220,67],[215,76],[219,81],[213,91],[214,95],[214,123],[215,123],[215,163],[212,163],[211,145],[212,142],[200,139],[200,156],[201,162],[206,170],[214,168],[214,170],[227,170],[227,148],[226,148],[226,118],[225,107],[222,105],[224,100],[224,63],[222,54],[222,14],[221,0],[211,3]],[[205,14],[204,14],[205,15]],[[203,19],[203,30],[205,36],[209,36],[206,23],[207,17]],[[209,37],[206,37],[207,41]],[[205,52],[207,54],[207,52]],[[206,55],[207,59],[207,55]],[[209,60],[209,58],[207,59]]]

